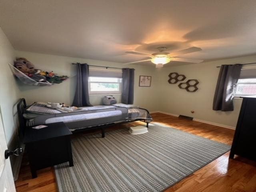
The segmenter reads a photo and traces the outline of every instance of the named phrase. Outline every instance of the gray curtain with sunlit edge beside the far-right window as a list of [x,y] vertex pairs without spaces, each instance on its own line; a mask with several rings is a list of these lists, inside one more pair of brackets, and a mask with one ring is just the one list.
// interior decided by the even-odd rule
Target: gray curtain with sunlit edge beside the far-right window
[[233,98],[242,64],[222,65],[214,94],[213,110],[233,111]]

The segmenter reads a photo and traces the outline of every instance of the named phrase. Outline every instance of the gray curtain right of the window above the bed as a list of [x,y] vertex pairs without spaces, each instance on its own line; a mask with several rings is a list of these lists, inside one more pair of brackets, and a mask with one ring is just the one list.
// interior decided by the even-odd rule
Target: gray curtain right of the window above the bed
[[124,104],[133,104],[134,97],[134,69],[123,68],[122,69],[122,99]]

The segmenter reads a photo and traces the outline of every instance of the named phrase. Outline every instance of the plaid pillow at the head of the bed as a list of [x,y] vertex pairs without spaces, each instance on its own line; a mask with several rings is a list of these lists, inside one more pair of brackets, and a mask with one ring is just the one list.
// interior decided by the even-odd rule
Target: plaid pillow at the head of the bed
[[33,112],[38,114],[56,114],[61,113],[58,110],[48,108],[47,103],[44,102],[34,102],[28,108],[26,108],[26,112]]

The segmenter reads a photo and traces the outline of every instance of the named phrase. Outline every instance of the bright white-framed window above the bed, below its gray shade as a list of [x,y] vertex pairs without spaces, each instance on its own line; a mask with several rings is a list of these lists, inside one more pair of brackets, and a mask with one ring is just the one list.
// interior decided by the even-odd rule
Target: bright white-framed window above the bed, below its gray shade
[[89,77],[89,94],[121,93],[122,78]]

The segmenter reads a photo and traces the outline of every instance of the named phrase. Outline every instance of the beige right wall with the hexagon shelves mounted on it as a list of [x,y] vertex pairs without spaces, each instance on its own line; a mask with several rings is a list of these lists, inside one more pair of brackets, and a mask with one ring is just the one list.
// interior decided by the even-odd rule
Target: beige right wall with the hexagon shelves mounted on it
[[[234,111],[232,112],[212,110],[212,102],[220,70],[220,68],[216,68],[216,66],[250,62],[256,62],[256,56],[158,69],[157,72],[160,78],[159,86],[162,101],[160,102],[160,110],[172,114],[192,116],[199,120],[234,128],[240,112],[241,99],[234,99]],[[187,77],[186,80],[197,79],[199,81],[199,89],[196,92],[186,92],[186,90],[178,88],[178,83],[169,84],[167,80],[168,74],[171,72],[184,74]],[[190,112],[191,110],[195,111],[194,114]]]

